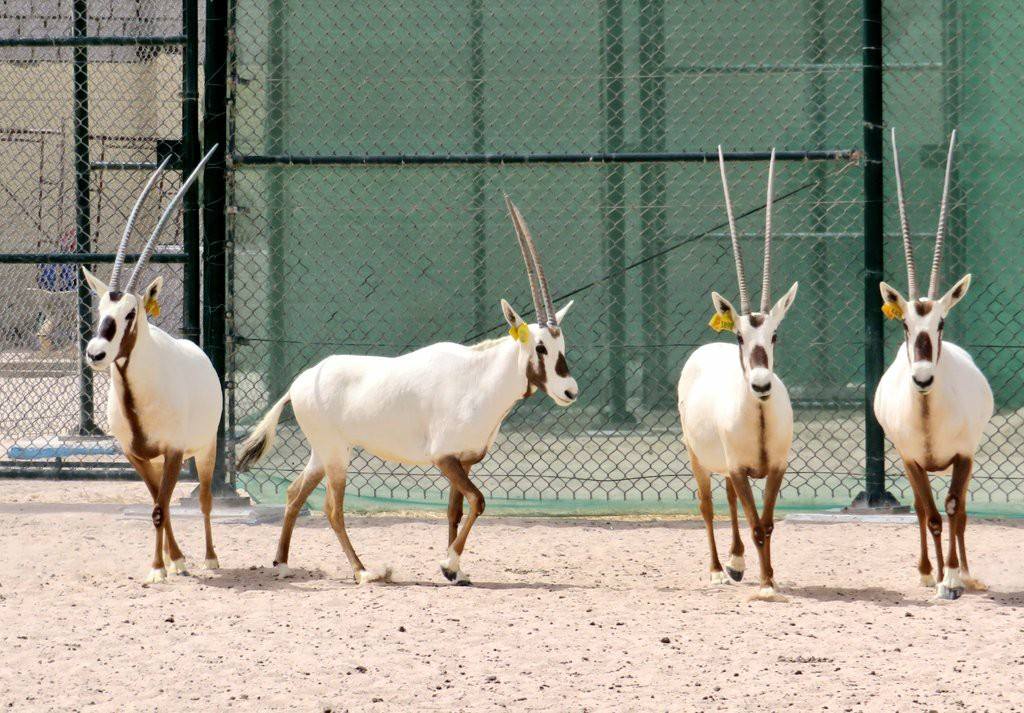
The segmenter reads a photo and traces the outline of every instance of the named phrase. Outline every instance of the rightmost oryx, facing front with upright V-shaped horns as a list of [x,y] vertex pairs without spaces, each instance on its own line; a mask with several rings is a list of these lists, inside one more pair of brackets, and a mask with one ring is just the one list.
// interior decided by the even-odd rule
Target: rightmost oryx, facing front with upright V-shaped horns
[[[985,376],[967,351],[942,339],[946,314],[964,298],[971,285],[971,276],[967,275],[952,289],[938,296],[955,140],[956,132],[953,131],[946,157],[932,277],[928,296],[919,297],[895,130],[892,133],[908,299],[904,299],[890,285],[881,283],[883,310],[890,319],[902,320],[905,340],[899,345],[874,392],[874,416],[903,459],[906,476],[913,490],[913,506],[921,528],[921,560],[918,565],[921,583],[927,587],[935,585],[932,563],[928,560],[927,530],[935,541],[935,558],[939,562],[937,594],[943,599],[959,598],[965,586],[986,589],[968,571],[964,533],[967,530],[967,489],[971,483],[974,454],[985,426],[992,418],[992,389]],[[943,572],[942,517],[935,507],[928,474],[950,470],[952,479],[945,503],[946,514],[949,515],[949,552]]]

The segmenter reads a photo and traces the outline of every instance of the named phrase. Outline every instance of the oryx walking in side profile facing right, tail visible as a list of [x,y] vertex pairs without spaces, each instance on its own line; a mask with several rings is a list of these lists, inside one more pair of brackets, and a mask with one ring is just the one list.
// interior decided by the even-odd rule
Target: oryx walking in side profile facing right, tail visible
[[[571,302],[555,311],[529,229],[505,198],[526,263],[537,324],[527,325],[502,300],[508,337],[472,346],[432,344],[401,356],[329,356],[295,379],[243,444],[238,467],[245,470],[273,444],[274,429],[291,402],[295,419],[309,441],[309,462],[288,489],[288,506],[274,567],[288,576],[288,550],[299,509],[327,475],[324,510],[341,543],[355,581],[387,579],[390,570],[368,570],[345,531],[345,478],[353,447],[386,460],[433,464],[452,484],[449,499],[449,550],[441,572],[468,584],[460,569],[466,538],[483,512],[483,494],[469,469],[486,455],[512,407],[537,389],[558,406],[577,400],[579,389],[565,362],[560,322]],[[463,498],[469,517],[459,530]]]

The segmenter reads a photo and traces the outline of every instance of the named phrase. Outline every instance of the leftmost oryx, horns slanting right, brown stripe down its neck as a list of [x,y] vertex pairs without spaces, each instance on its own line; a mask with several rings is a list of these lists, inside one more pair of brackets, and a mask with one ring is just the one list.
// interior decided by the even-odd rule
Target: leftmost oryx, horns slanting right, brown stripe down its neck
[[[106,418],[111,432],[153,496],[157,547],[145,579],[147,583],[163,582],[167,570],[187,574],[184,555],[171,531],[169,507],[181,462],[187,458],[196,459],[199,472],[200,505],[206,526],[206,565],[218,567],[210,529],[210,484],[220,423],[220,382],[201,348],[150,324],[147,313],[160,313],[157,297],[164,279],[157,278],[140,293],[135,291],[156,249],[157,238],[212,155],[213,150],[203,157],[168,203],[123,287],[121,274],[135,218],[169,158],[150,178],[128,216],[110,285],[82,268],[89,287],[99,296],[99,327],[86,345],[85,356],[94,370],[110,369],[114,389],[106,402]],[[170,560],[167,568],[165,553]]]

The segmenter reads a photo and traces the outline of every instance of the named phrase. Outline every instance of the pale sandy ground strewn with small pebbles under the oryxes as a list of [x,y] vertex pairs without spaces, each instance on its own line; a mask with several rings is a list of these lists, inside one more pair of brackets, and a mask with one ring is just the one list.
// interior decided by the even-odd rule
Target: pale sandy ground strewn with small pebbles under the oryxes
[[[275,526],[221,525],[224,569],[143,587],[152,527],[75,505],[104,495],[143,492],[0,480],[0,707],[1024,708],[1020,522],[970,525],[974,574],[991,591],[956,602],[918,586],[912,526],[780,523],[790,601],[765,603],[748,601],[751,582],[705,583],[693,520],[486,515],[464,559],[472,587],[443,582],[446,528],[422,515],[349,518],[365,560],[392,565],[393,584],[352,584],[311,517],[293,541],[295,579],[265,569]],[[175,530],[196,561],[201,522]]]

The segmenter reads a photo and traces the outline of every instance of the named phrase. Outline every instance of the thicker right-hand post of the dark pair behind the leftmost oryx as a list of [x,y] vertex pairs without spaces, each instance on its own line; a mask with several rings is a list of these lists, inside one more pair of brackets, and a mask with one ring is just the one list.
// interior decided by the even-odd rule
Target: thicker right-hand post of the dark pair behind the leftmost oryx
[[[198,39],[198,38],[197,38]],[[224,385],[225,346],[225,271],[224,215],[227,150],[227,0],[206,0],[206,59],[204,77],[204,143],[206,151],[217,144],[203,172],[203,349],[206,351],[221,387]],[[217,465],[213,490],[218,495],[233,494],[232,474],[224,469],[226,442],[224,417],[217,429]]]

